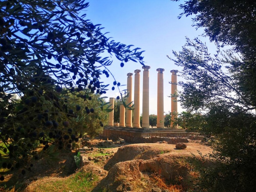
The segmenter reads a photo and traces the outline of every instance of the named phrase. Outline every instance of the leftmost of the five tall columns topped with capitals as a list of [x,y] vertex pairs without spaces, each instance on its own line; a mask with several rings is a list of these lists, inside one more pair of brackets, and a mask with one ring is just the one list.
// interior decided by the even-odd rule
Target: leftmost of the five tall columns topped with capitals
[[[131,107],[132,106],[132,96],[133,96],[133,78],[132,78],[132,73],[128,73],[127,74],[127,94],[128,97],[126,98],[126,105],[128,107]],[[131,103],[131,104],[129,104]],[[129,105],[128,105],[129,104]],[[132,124],[132,110],[129,110],[126,108],[126,127],[132,127],[133,124]]]

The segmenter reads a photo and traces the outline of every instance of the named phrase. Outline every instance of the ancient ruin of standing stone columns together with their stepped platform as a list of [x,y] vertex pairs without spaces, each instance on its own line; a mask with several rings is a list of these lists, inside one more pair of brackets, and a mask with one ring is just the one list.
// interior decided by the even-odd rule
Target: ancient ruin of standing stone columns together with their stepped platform
[[[183,129],[179,129],[178,125],[171,122],[171,128],[164,128],[164,102],[163,102],[163,72],[164,69],[158,68],[157,83],[157,128],[149,128],[149,69],[150,66],[143,66],[143,82],[142,82],[142,126],[140,127],[140,70],[134,71],[134,98],[132,98],[132,73],[127,74],[127,99],[126,105],[131,107],[134,102],[134,120],[132,122],[132,110],[125,109],[124,105],[120,105],[119,124],[114,122],[114,110],[109,113],[108,126],[104,127],[104,131],[100,136],[107,138],[123,138],[135,141],[145,137],[173,137],[188,136]],[[171,94],[177,93],[177,73],[178,70],[171,70]],[[110,98],[110,109],[114,108],[114,98]],[[126,111],[126,117],[125,117]],[[171,119],[177,117],[178,103],[177,97],[171,97]]]

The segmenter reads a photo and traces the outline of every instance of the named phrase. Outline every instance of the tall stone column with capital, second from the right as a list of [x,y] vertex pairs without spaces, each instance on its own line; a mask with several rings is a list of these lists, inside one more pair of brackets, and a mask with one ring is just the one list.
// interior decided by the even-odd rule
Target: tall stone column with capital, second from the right
[[164,128],[163,115],[163,72],[164,69],[157,69],[157,128]]

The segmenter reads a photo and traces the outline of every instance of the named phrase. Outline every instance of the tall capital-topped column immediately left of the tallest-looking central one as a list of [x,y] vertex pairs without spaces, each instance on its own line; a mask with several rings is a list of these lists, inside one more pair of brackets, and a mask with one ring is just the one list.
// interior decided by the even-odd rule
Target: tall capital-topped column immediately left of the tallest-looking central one
[[133,127],[140,127],[139,123],[139,105],[140,105],[140,70],[134,71],[134,111],[133,111]]

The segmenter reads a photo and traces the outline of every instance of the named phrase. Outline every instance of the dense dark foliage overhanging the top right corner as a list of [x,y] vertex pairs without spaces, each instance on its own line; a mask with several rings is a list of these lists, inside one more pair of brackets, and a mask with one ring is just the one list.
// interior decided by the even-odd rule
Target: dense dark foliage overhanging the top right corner
[[[178,0],[175,0],[178,1]],[[256,2],[250,0],[189,0],[180,5],[180,14],[195,15],[196,28],[204,28],[211,41],[232,45],[245,59],[256,56]]]

